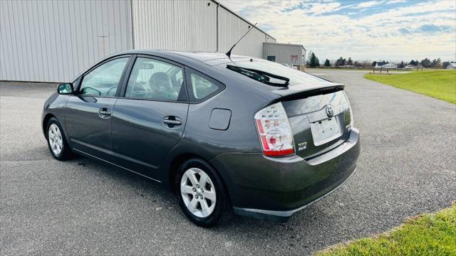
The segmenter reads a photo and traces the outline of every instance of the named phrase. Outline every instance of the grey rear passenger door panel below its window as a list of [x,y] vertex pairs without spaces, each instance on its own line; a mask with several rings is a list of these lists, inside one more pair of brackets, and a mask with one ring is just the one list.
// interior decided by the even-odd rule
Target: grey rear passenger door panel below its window
[[[112,124],[115,163],[161,180],[162,163],[184,132],[188,105],[119,98]],[[163,123],[163,118],[169,116],[177,117],[182,123],[172,127]]]

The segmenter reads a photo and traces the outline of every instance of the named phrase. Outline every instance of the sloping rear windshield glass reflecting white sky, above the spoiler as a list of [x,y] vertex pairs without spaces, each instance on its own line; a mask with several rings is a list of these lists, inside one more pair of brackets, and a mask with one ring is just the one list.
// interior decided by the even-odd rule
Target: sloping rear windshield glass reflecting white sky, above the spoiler
[[[234,63],[225,63],[224,65],[234,65]],[[293,68],[286,67],[285,65],[281,65],[279,63],[274,63],[272,61],[267,60],[253,60],[253,61],[238,61],[236,65],[241,68],[252,68],[256,70],[261,70],[267,73],[271,73],[274,75],[280,75],[290,79],[289,85],[300,85],[303,81],[308,81],[309,79],[315,79],[319,81],[324,81],[321,78],[317,78],[313,75],[309,75],[299,70],[295,70]],[[271,82],[278,82],[283,83],[283,80],[271,78]]]

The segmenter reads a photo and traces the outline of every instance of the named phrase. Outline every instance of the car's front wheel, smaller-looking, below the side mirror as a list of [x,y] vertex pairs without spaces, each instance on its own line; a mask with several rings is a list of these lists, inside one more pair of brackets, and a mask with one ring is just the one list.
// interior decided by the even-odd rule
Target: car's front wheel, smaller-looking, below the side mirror
[[73,152],[68,146],[63,129],[56,117],[51,117],[46,125],[46,140],[53,158],[58,161],[71,159]]

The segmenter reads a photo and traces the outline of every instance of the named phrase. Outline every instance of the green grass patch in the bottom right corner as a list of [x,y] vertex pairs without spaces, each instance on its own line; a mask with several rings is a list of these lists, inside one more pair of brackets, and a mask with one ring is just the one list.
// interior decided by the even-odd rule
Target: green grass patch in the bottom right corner
[[388,233],[336,245],[316,255],[456,255],[456,203],[410,218]]

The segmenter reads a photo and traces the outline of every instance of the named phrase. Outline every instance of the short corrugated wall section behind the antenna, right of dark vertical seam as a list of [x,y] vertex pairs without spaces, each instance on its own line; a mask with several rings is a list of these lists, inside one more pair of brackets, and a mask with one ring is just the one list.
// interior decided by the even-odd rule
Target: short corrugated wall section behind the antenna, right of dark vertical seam
[[[226,53],[249,30],[249,26],[251,26],[249,23],[232,14],[232,12],[219,7],[219,52]],[[232,53],[261,58],[263,56],[263,42],[266,40],[275,42],[274,38],[270,38],[257,28],[253,28],[239,42]]]

